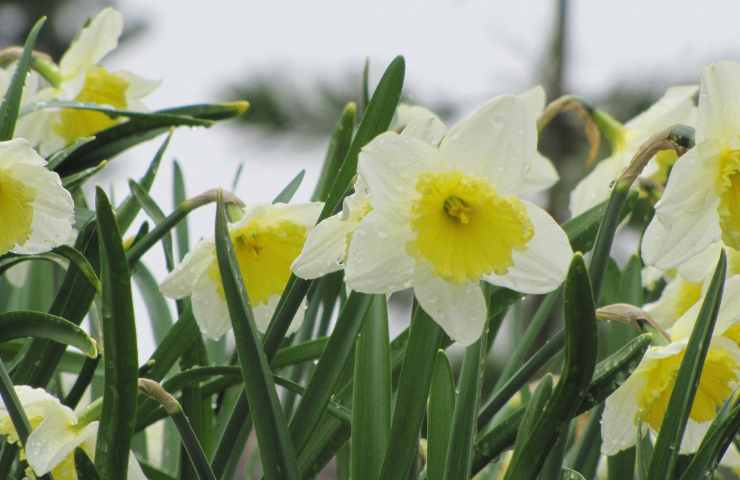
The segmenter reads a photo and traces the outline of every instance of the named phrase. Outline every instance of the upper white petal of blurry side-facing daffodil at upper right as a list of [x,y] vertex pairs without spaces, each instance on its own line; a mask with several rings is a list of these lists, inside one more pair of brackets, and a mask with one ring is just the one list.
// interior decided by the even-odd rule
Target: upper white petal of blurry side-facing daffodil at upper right
[[629,141],[639,146],[661,130],[677,123],[686,124],[692,118],[694,111],[693,97],[696,95],[696,85],[682,85],[671,87],[650,108],[634,117],[625,124],[629,132]]

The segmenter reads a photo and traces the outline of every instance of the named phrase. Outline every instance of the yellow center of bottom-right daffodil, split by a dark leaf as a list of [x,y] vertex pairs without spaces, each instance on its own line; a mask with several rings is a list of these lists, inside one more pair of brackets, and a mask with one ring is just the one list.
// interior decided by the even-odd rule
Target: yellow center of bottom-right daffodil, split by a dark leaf
[[[655,359],[643,371],[647,382],[638,402],[642,420],[653,430],[659,430],[663,423],[684,354],[685,350],[677,355]],[[699,423],[712,420],[717,409],[732,394],[736,380],[736,365],[731,354],[722,348],[712,348],[704,363],[689,418]]]

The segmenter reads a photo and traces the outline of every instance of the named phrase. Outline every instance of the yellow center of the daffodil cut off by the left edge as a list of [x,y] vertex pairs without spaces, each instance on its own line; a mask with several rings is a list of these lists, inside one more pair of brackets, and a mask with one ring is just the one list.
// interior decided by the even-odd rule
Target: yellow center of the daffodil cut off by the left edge
[[13,178],[8,170],[0,170],[0,255],[31,236],[35,189]]

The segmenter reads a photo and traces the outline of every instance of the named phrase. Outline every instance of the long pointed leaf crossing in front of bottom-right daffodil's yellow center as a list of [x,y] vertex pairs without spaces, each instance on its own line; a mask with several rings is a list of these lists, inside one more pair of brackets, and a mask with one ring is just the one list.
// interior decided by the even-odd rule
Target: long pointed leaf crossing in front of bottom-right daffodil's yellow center
[[655,441],[648,478],[674,478],[676,475],[678,451],[712,341],[726,273],[727,256],[723,250],[678,369],[671,399]]

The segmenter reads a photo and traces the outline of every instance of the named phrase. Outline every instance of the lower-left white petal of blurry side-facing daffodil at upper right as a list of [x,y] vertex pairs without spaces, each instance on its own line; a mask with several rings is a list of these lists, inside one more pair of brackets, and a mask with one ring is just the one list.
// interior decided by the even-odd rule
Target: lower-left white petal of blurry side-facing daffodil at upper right
[[629,164],[629,156],[617,153],[596,164],[570,194],[570,213],[577,216],[603,202],[612,191],[613,182]]

